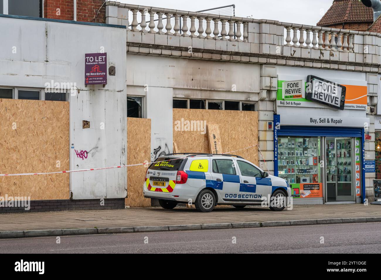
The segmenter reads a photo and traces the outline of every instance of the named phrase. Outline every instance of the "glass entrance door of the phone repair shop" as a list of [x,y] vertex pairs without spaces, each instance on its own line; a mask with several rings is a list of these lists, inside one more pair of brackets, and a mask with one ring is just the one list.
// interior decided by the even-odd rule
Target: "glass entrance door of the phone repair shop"
[[326,138],[327,201],[354,201],[353,138]]

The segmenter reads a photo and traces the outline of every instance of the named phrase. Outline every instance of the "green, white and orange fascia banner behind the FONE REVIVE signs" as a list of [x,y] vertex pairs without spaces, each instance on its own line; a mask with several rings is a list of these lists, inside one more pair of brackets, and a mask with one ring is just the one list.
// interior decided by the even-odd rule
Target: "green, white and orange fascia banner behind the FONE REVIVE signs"
[[[317,77],[316,77],[317,78]],[[319,80],[321,79],[321,81]],[[319,82],[320,81],[320,82]],[[312,97],[310,100],[306,98],[285,98],[284,95],[286,90],[289,90],[289,94],[292,96],[293,92],[297,92],[297,86],[293,83],[297,81],[290,81],[291,85],[287,86],[287,88],[283,89],[284,84],[288,85],[288,81],[279,79],[278,80],[278,91],[277,91],[277,106],[281,107],[315,107],[315,108],[328,108],[328,103],[331,103],[333,108],[338,110],[346,110],[346,109],[355,109],[355,110],[366,110],[367,109],[367,86],[355,86],[349,84],[335,84],[336,87],[329,87],[329,83],[325,82],[323,78],[318,78],[317,80],[312,80],[313,83],[308,84],[311,85],[311,88],[314,89],[314,86],[317,89],[317,94],[315,94],[315,99]],[[304,92],[307,87],[307,80],[304,82]],[[315,84],[315,85],[314,85]],[[343,94],[343,89],[345,90],[345,94]],[[308,90],[307,90],[308,91]],[[333,92],[333,94],[329,95],[328,92]],[[335,96],[337,94],[337,96]],[[295,96],[297,94],[294,94]],[[308,95],[307,93],[305,95]],[[307,96],[306,96],[307,97]],[[338,97],[336,99],[336,97]],[[344,104],[342,104],[341,98],[344,97]],[[340,99],[340,100],[338,100]],[[337,103],[337,104],[336,104]],[[335,106],[336,104],[336,106]],[[339,106],[337,106],[339,105]],[[344,105],[344,107],[342,107]]]

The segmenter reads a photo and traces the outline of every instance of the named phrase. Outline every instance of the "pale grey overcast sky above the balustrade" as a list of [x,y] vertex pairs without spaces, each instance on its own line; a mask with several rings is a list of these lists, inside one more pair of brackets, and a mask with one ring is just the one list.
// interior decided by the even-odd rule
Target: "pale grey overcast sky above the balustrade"
[[199,11],[235,4],[235,15],[255,19],[274,19],[283,22],[316,25],[330,8],[333,0],[117,0],[122,3],[154,6],[176,10]]

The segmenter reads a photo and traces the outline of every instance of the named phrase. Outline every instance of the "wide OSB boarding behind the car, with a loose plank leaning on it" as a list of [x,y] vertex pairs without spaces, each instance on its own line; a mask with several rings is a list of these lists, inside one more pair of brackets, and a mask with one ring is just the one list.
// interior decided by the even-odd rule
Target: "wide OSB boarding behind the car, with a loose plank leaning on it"
[[[176,142],[180,153],[210,153],[206,126],[204,131],[184,131],[187,127],[182,123],[185,124],[185,121],[206,121],[206,125],[217,124],[223,153],[258,144],[258,112],[173,109],[173,141]],[[179,125],[176,127],[176,124]],[[200,127],[204,129],[203,126]],[[257,146],[232,154],[242,156],[258,165]]]

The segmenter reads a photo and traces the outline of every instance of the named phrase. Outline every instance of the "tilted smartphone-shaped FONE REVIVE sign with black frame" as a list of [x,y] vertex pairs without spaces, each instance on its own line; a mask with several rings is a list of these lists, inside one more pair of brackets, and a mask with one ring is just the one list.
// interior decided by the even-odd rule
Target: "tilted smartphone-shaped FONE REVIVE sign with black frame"
[[344,110],[346,87],[341,84],[319,78],[307,76],[306,99],[331,108]]

